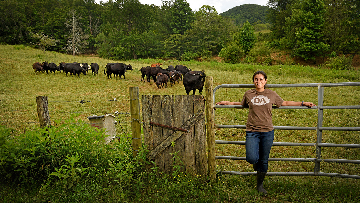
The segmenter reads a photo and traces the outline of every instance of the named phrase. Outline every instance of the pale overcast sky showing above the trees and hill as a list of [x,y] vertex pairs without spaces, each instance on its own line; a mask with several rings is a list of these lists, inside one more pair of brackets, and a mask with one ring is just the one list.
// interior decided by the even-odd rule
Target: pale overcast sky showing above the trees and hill
[[[102,0],[103,2],[107,2],[107,0]],[[157,6],[160,6],[162,4],[162,0],[139,0],[143,4],[155,4]],[[99,4],[100,0],[96,0],[96,2]],[[267,0],[188,0],[188,3],[193,9],[199,10],[201,6],[203,5],[209,5],[214,6],[217,13],[220,14],[222,12],[225,12],[231,8],[234,8],[235,6],[239,6],[242,4],[258,4],[265,6],[267,4]]]

